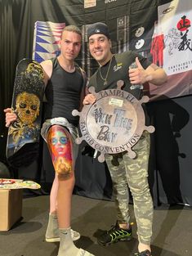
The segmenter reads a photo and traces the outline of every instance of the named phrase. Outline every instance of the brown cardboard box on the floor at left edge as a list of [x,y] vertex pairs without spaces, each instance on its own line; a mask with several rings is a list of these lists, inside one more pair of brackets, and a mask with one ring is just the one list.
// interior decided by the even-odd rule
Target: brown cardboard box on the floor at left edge
[[0,190],[0,231],[8,231],[22,215],[22,189]]

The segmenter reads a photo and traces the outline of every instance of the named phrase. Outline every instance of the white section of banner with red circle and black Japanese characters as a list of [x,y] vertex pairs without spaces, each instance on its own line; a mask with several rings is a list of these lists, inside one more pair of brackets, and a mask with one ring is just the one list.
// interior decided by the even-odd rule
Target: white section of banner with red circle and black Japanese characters
[[163,68],[167,74],[192,70],[192,1],[172,1],[159,7],[164,35]]

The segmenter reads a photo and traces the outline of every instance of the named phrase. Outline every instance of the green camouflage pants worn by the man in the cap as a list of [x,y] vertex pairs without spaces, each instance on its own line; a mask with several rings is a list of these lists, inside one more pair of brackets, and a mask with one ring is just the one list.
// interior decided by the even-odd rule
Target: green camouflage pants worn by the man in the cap
[[149,132],[143,132],[132,150],[136,152],[136,159],[130,159],[127,153],[123,152],[117,155],[106,155],[105,160],[113,181],[118,222],[130,220],[129,187],[132,192],[138,239],[141,243],[150,245],[154,207],[148,183]]

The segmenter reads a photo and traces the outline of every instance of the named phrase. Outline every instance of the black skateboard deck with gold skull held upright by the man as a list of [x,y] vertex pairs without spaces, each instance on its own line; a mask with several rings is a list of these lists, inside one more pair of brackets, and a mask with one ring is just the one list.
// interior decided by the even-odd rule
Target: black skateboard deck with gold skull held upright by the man
[[36,61],[23,59],[16,66],[11,110],[17,119],[7,135],[7,161],[13,166],[25,166],[38,155],[43,77],[42,66]]

